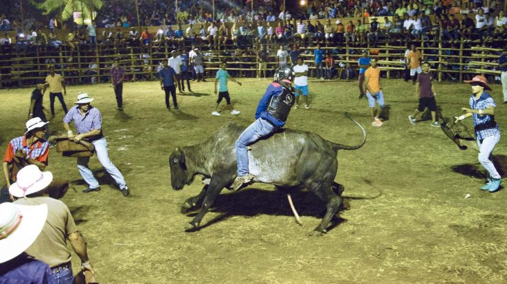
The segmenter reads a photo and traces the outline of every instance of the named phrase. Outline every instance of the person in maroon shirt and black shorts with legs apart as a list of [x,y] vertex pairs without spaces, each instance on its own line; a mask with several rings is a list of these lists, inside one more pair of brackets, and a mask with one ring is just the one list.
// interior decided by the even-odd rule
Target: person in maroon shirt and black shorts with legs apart
[[435,89],[431,81],[433,76],[429,73],[429,62],[423,62],[423,73],[417,76],[416,99],[419,99],[419,106],[414,110],[414,114],[409,115],[409,121],[412,125],[417,123],[417,115],[422,113],[425,108],[431,112],[431,126],[440,127],[436,121],[436,112],[438,110],[435,99]]

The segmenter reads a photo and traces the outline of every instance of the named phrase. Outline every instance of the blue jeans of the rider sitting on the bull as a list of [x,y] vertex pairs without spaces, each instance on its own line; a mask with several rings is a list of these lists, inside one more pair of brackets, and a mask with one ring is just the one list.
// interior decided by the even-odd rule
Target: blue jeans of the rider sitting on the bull
[[254,144],[260,138],[271,134],[275,130],[268,121],[258,118],[251,123],[243,133],[241,133],[238,141],[236,141],[236,156],[238,157],[238,176],[248,174],[248,152],[247,146]]

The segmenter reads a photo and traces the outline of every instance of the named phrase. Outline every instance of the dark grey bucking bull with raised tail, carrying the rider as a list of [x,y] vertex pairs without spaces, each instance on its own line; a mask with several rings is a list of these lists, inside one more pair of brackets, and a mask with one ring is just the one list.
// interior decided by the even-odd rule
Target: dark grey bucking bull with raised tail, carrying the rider
[[[363,141],[348,146],[327,141],[318,134],[291,129],[281,129],[270,137],[251,145],[249,171],[254,175],[252,182],[275,185],[288,191],[306,187],[326,204],[326,214],[313,235],[326,233],[331,218],[341,206],[341,191],[335,176],[338,169],[338,150],[355,150],[366,141],[366,131],[347,115],[363,131]],[[177,147],[170,154],[171,185],[174,190],[190,185],[196,175],[210,178],[201,193],[188,198],[182,209],[201,210],[185,226],[186,230],[199,228],[205,213],[224,187],[231,188],[236,178],[235,143],[245,126],[227,123],[219,128],[204,143]]]

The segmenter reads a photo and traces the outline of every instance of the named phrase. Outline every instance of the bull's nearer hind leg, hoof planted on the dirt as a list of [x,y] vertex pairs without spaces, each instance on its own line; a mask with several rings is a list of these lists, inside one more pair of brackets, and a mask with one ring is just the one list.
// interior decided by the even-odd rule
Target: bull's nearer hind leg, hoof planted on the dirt
[[322,218],[319,226],[313,230],[313,235],[322,235],[326,233],[326,228],[338,212],[341,205],[341,197],[333,191],[333,182],[308,182],[306,188],[313,192],[320,200],[326,204],[326,215]]

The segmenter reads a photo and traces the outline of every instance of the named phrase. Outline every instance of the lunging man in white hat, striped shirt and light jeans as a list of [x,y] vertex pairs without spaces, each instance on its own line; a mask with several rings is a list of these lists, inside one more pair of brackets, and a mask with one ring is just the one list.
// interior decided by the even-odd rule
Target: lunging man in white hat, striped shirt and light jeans
[[[125,178],[117,167],[113,165],[113,162],[109,160],[107,154],[107,141],[102,133],[102,114],[97,108],[90,105],[91,102],[93,102],[93,98],[88,97],[87,93],[80,93],[78,101],[74,103],[77,106],[72,107],[69,113],[65,115],[63,127],[67,130],[67,137],[69,139],[79,142],[86,138],[93,143],[100,164],[115,180],[117,187],[120,188],[123,196],[126,197],[130,191],[126,185]],[[76,126],[77,135],[74,135],[70,129],[69,123],[72,121],[74,121]],[[100,185],[88,167],[89,161],[90,157],[78,157],[79,173],[88,184],[88,188],[82,191],[84,193],[100,191]]]

